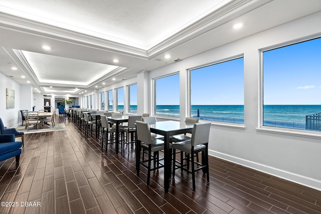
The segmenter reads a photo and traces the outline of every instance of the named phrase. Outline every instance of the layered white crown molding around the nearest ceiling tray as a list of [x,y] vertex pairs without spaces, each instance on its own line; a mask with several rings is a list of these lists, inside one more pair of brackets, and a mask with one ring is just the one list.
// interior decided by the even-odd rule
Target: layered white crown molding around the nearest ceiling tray
[[[173,49],[189,40],[192,40],[203,33],[219,27],[220,25],[237,18],[255,8],[258,8],[272,0],[235,0],[232,1],[203,19],[195,22],[189,27],[183,29],[179,33],[155,44],[148,50],[135,48],[133,46],[124,45],[117,42],[101,39],[108,38],[108,35],[101,35],[101,38],[93,37],[74,31],[50,26],[16,17],[6,13],[0,13],[0,28],[13,31],[19,31],[27,34],[51,38],[54,40],[69,42],[90,48],[104,51],[110,51],[119,54],[125,54],[141,59],[151,59],[158,54]],[[97,32],[95,32],[97,34]],[[124,41],[128,43],[128,41]]]

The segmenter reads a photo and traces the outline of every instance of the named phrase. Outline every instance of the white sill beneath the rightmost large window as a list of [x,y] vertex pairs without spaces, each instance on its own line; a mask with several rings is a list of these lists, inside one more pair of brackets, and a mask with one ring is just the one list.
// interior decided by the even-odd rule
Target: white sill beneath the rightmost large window
[[298,129],[278,129],[275,127],[260,127],[256,128],[258,132],[274,133],[274,134],[285,134],[296,137],[309,137],[314,139],[321,139],[321,132],[298,130]]

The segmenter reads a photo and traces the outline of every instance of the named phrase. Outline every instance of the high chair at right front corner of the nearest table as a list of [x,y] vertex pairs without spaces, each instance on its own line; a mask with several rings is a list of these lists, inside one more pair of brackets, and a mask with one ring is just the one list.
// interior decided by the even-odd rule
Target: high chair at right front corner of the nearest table
[[[193,126],[192,138],[190,140],[173,143],[173,177],[175,177],[175,170],[180,168],[181,170],[185,170],[189,173],[192,173],[192,182],[193,189],[195,189],[195,172],[199,170],[203,170],[203,173],[206,174],[207,182],[210,182],[209,175],[209,157],[208,157],[208,143],[210,136],[211,123],[195,123]],[[191,166],[192,170],[189,168],[185,168],[187,164],[183,162],[183,155],[181,153],[181,160],[176,161],[176,149],[186,152],[188,154],[188,158],[191,157]],[[194,161],[194,154],[198,154],[202,152],[202,163],[199,163],[199,166],[195,168],[195,164],[197,162]],[[189,162],[189,161],[188,161]]]

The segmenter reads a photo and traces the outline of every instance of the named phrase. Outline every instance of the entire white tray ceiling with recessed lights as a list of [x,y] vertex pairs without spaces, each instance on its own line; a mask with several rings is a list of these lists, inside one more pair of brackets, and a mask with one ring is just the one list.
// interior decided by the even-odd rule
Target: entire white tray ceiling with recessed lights
[[0,0],[0,72],[43,93],[90,91],[319,11],[319,0]]

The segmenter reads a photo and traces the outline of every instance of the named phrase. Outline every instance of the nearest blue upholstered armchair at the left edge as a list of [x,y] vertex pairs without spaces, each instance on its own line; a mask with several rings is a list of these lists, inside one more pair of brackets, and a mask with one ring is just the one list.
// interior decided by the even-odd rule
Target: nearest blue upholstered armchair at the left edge
[[16,156],[16,162],[19,163],[21,154],[21,141],[15,141],[14,134],[0,135],[0,161]]

